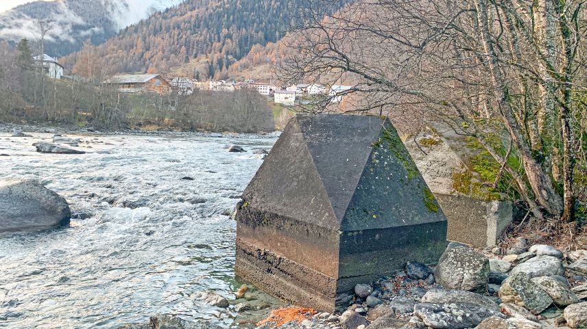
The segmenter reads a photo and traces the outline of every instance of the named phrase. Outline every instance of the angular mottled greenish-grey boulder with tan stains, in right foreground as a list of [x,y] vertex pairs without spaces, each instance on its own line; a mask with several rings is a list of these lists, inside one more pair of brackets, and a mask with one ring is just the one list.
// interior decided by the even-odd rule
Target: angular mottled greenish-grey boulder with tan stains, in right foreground
[[534,314],[541,313],[553,302],[524,272],[514,274],[503,282],[499,289],[499,298],[505,303],[523,306]]

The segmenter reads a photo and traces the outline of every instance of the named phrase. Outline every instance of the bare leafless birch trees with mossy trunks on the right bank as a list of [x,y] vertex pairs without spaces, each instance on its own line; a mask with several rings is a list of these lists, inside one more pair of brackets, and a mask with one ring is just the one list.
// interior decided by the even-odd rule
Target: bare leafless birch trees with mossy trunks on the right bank
[[[459,124],[537,218],[573,220],[584,1],[363,0],[326,16],[324,2],[303,11],[287,79],[346,79],[353,87],[341,94],[361,99],[352,111]],[[331,106],[324,98],[313,111]]]

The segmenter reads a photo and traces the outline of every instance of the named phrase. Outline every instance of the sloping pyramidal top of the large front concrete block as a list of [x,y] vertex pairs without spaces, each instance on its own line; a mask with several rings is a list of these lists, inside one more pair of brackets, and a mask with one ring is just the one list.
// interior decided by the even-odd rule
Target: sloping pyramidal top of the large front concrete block
[[340,231],[446,221],[387,119],[297,115],[243,200]]

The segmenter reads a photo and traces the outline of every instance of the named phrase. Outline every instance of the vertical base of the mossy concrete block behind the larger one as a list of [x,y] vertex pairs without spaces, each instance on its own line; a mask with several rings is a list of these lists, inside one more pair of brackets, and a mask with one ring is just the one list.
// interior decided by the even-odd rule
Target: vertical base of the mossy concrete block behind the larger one
[[450,241],[481,248],[496,246],[499,236],[514,220],[512,203],[481,201],[467,196],[435,194],[448,218]]

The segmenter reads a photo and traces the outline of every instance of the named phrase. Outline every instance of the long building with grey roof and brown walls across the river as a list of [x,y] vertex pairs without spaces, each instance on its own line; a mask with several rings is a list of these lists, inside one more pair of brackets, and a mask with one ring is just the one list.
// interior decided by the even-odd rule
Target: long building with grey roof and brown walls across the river
[[171,84],[160,75],[116,75],[105,83],[115,85],[119,92],[128,94],[139,92],[155,92],[167,94],[171,92]]

